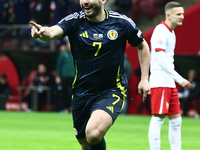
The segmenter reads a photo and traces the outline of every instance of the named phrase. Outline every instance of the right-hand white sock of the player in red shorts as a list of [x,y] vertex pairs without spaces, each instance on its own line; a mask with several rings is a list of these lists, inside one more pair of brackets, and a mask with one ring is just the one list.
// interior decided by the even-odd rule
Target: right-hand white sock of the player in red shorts
[[181,124],[181,116],[169,120],[169,142],[171,150],[181,150]]

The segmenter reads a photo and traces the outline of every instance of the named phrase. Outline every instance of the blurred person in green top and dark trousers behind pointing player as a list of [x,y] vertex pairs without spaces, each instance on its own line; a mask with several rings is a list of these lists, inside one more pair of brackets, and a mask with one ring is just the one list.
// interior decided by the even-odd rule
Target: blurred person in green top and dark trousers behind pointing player
[[71,94],[72,83],[75,76],[74,61],[71,53],[70,43],[60,46],[60,54],[56,64],[56,84],[58,85],[59,100],[56,111],[71,111]]

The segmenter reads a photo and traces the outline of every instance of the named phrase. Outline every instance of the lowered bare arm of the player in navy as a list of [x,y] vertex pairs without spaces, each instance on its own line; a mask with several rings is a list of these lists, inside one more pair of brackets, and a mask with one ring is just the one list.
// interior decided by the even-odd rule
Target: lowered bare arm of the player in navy
[[150,66],[150,51],[147,42],[144,40],[137,46],[138,57],[141,67],[141,80],[138,84],[138,93],[143,96],[142,101],[144,102],[147,93],[150,90],[149,87],[149,66]]

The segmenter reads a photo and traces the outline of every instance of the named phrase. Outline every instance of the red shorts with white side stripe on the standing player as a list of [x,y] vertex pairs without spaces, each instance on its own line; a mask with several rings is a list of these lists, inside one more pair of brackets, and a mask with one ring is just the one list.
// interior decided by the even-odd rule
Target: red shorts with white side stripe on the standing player
[[151,88],[152,114],[179,114],[180,102],[176,88]]

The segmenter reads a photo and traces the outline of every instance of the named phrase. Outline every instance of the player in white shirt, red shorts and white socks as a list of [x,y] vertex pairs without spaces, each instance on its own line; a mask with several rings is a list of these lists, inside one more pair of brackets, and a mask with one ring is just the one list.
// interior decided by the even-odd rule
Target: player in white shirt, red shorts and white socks
[[182,25],[184,9],[178,2],[165,6],[165,21],[157,25],[151,37],[151,108],[149,144],[151,150],[160,150],[160,132],[166,115],[169,117],[169,141],[172,150],[181,150],[180,103],[175,81],[184,88],[191,83],[174,70],[174,29]]

